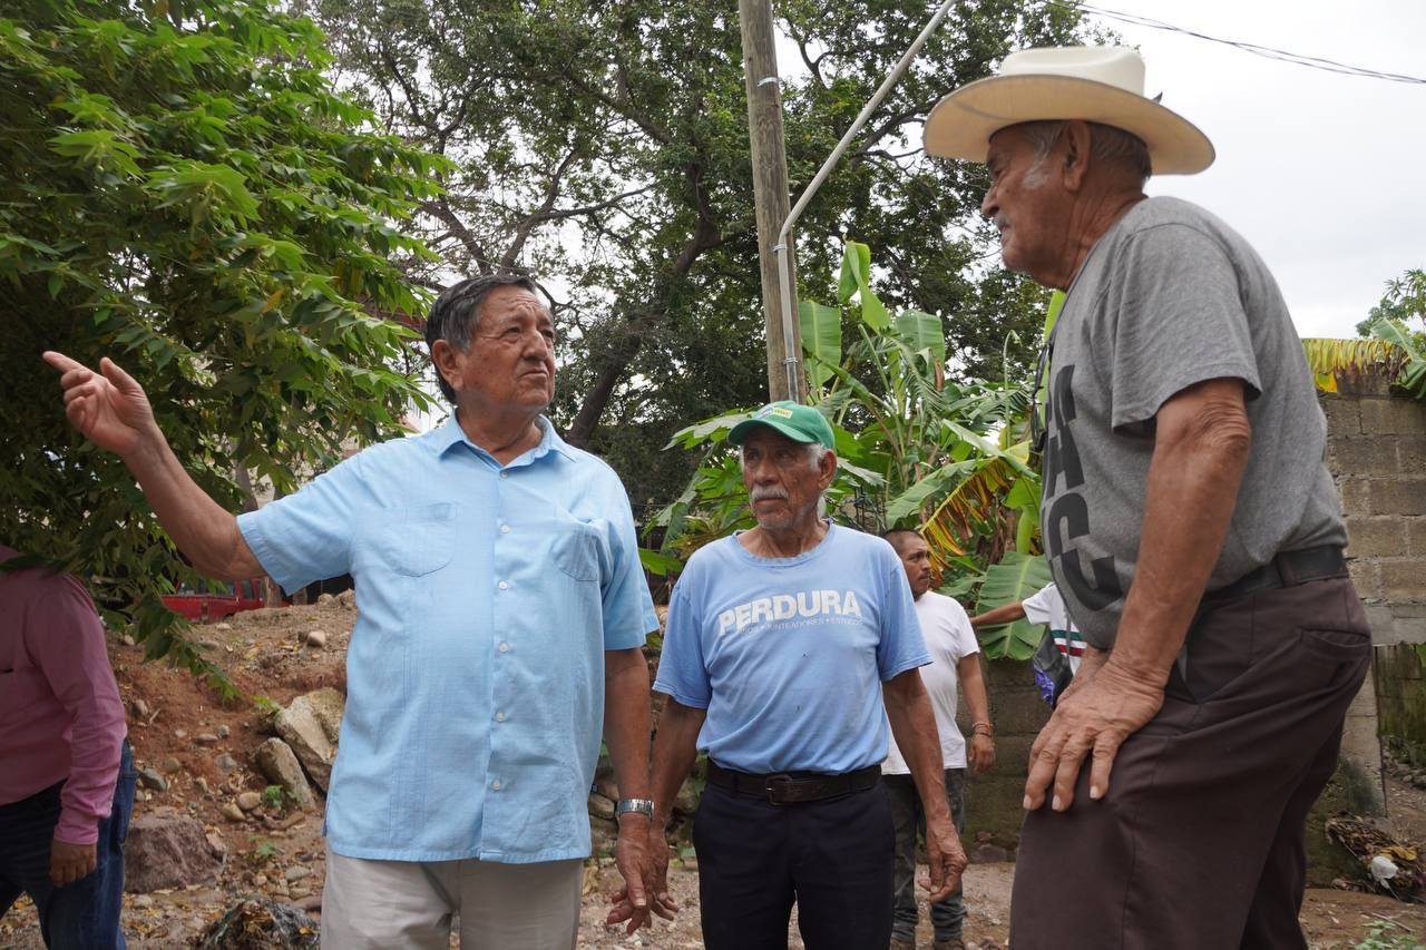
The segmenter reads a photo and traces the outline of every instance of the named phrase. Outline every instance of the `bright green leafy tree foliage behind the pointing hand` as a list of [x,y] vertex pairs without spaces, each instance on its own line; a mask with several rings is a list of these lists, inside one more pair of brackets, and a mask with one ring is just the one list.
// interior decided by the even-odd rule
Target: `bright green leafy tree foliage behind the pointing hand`
[[[137,605],[151,656],[177,562],[123,465],[70,431],[43,349],[111,355],[200,485],[292,486],[425,397],[425,292],[391,258],[441,160],[332,94],[324,40],[261,0],[19,0],[0,19],[0,539]],[[396,317],[399,320],[389,320]],[[170,575],[171,576],[171,575]]]

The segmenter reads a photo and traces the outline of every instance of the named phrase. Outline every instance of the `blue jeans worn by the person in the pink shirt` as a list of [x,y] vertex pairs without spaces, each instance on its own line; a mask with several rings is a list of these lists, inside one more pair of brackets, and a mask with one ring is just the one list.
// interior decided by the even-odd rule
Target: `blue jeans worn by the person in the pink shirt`
[[27,799],[0,805],[0,917],[21,892],[40,914],[40,934],[51,950],[124,950],[118,910],[124,896],[124,837],[134,810],[134,753],[124,740],[114,806],[98,823],[94,873],[56,887],[50,843],[60,822],[60,790],[53,785]]

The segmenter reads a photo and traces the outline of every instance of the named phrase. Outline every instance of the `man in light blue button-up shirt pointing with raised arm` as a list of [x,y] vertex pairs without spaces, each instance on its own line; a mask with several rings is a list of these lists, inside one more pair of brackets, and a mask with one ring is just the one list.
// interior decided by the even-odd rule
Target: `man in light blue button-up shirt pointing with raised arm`
[[356,581],[324,946],[445,947],[459,914],[463,946],[572,950],[602,726],[627,796],[620,919],[649,916],[640,648],[657,618],[619,479],[540,415],[553,321],[535,290],[482,277],[436,301],[426,338],[451,422],[237,519],[187,478],[127,374],[50,358],[71,421],[124,458],[201,572]]

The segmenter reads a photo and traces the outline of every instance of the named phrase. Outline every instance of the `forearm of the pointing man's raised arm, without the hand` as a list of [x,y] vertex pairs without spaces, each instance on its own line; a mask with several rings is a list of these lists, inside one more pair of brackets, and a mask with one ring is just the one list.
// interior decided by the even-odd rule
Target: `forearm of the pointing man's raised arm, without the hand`
[[198,573],[221,581],[264,575],[238,531],[237,518],[193,481],[157,427],[124,455],[124,464],[164,531]]

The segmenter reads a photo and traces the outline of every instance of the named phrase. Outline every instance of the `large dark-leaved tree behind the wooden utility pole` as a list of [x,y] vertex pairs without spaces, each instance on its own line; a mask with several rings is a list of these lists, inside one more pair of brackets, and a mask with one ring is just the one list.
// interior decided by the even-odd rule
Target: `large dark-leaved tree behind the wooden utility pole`
[[[552,280],[563,342],[555,418],[667,501],[689,419],[766,397],[747,104],[733,0],[308,0],[388,126],[456,163],[425,203],[458,270]],[[789,171],[800,191],[910,46],[931,0],[786,0]],[[893,310],[937,314],[948,365],[998,378],[1044,295],[998,268],[983,171],[930,161],[920,126],[1008,50],[1068,41],[1078,11],[987,0],[954,13],[871,117],[799,230],[804,294],[830,300],[843,234],[874,251]],[[435,275],[432,275],[435,278]],[[1018,375],[1032,352],[1012,345]]]

